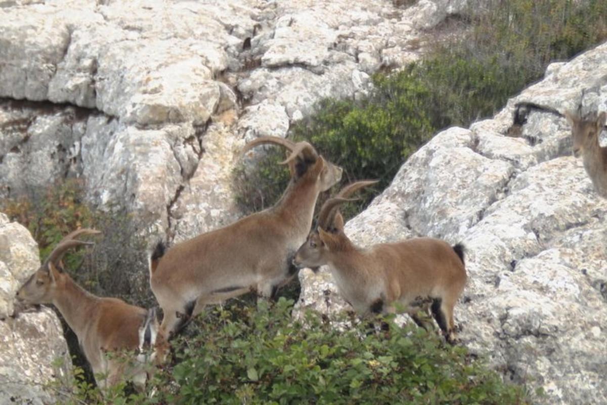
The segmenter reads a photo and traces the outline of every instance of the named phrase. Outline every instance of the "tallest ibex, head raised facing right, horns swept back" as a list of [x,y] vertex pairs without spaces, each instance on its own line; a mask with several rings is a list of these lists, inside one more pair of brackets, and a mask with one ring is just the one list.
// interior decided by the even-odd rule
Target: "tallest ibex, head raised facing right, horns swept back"
[[177,332],[207,304],[251,290],[271,298],[296,273],[291,259],[310,231],[317,197],[341,180],[342,169],[307,142],[260,137],[244,152],[267,143],[290,151],[282,164],[288,165],[291,180],[276,205],[166,253],[163,243],[152,251],[150,284],[164,312],[163,333]]

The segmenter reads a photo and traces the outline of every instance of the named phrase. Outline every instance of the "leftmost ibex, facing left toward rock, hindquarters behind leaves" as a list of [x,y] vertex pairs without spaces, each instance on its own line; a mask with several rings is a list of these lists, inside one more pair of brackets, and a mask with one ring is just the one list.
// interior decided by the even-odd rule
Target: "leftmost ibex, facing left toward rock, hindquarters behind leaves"
[[[25,304],[53,304],[78,336],[80,347],[101,388],[113,386],[123,379],[132,379],[143,387],[151,363],[162,361],[168,342],[158,333],[155,311],[129,305],[116,298],[94,296],[76,284],[69,274],[59,271],[61,258],[73,247],[88,245],[75,239],[100,231],[81,229],[64,237],[49,258],[17,291],[16,298]],[[143,355],[134,356],[133,364],[106,352],[121,352],[144,347],[154,349],[152,358],[141,364]],[[109,358],[108,358],[109,357]]]

